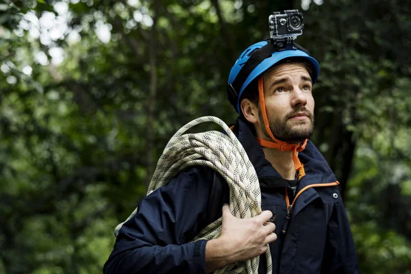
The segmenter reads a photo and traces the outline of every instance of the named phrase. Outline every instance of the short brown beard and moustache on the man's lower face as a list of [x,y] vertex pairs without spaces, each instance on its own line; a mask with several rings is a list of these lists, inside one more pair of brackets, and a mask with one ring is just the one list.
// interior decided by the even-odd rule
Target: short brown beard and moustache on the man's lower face
[[[306,119],[290,121],[290,118],[298,112],[305,113],[308,116],[309,121],[307,121]],[[260,116],[260,121],[264,121],[262,119],[260,108],[258,108],[258,116]],[[310,112],[306,108],[296,108],[294,111],[284,116],[284,118],[271,117],[268,114],[267,118],[269,119],[270,129],[274,137],[284,142],[303,142],[303,140],[310,138],[314,130],[314,114],[312,114],[312,112]],[[264,133],[266,138],[270,139],[270,136],[266,132],[264,126],[262,127],[262,132]]]

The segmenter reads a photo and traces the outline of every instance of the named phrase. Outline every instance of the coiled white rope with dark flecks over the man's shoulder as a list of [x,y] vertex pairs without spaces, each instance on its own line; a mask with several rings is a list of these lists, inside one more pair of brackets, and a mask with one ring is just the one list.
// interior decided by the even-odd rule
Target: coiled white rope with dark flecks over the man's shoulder
[[[226,134],[210,131],[184,134],[199,123],[214,122],[223,127]],[[261,213],[261,190],[256,170],[245,149],[229,127],[214,116],[203,116],[187,123],[169,140],[151,179],[147,195],[166,185],[179,171],[189,166],[209,166],[219,172],[229,185],[229,210],[238,218],[251,218]],[[137,208],[128,217],[131,219]],[[126,222],[125,221],[125,222]],[[124,222],[124,223],[125,223]],[[114,230],[117,236],[123,223]],[[221,232],[221,218],[201,230],[192,241],[218,238]],[[270,249],[266,252],[267,273],[272,272]],[[245,262],[237,262],[214,273],[258,273],[259,257]]]

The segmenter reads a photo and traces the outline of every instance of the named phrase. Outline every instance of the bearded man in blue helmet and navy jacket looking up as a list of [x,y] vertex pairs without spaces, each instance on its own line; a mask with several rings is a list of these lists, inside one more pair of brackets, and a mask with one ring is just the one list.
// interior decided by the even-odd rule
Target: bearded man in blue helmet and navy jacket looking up
[[[232,216],[221,175],[188,168],[141,201],[104,273],[210,273],[256,256],[258,273],[267,273],[267,244],[273,273],[358,273],[338,182],[308,140],[318,75],[318,62],[297,45],[264,41],[246,49],[229,75],[228,92],[239,114],[232,130],[256,169],[263,212]],[[190,242],[220,216],[219,238]]]

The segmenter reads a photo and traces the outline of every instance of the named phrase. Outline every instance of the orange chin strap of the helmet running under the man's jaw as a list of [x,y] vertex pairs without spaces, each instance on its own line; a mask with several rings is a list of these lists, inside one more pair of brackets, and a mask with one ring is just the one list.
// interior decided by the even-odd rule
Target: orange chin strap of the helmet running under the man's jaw
[[305,175],[303,164],[301,164],[298,156],[297,151],[303,151],[306,148],[308,139],[304,140],[301,144],[290,144],[288,142],[284,142],[282,140],[278,140],[274,137],[273,132],[271,132],[269,119],[267,118],[267,112],[265,108],[265,100],[264,100],[264,82],[262,76],[258,78],[258,96],[260,97],[260,108],[262,112],[262,119],[264,121],[264,127],[266,132],[269,134],[271,139],[274,142],[269,140],[263,140],[257,138],[258,143],[262,147],[269,147],[271,149],[279,149],[280,151],[291,151],[292,150],[292,161],[294,162],[295,170],[299,171],[299,177]]

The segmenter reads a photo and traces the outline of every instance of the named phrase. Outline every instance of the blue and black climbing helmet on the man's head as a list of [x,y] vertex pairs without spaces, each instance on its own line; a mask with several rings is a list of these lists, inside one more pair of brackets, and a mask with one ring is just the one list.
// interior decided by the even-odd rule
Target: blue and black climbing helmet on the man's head
[[303,58],[312,64],[314,68],[311,75],[312,84],[316,82],[320,71],[319,62],[295,42],[279,45],[270,41],[261,41],[240,54],[229,73],[227,85],[228,99],[239,115],[241,115],[240,97],[245,88],[272,66],[289,58]]

